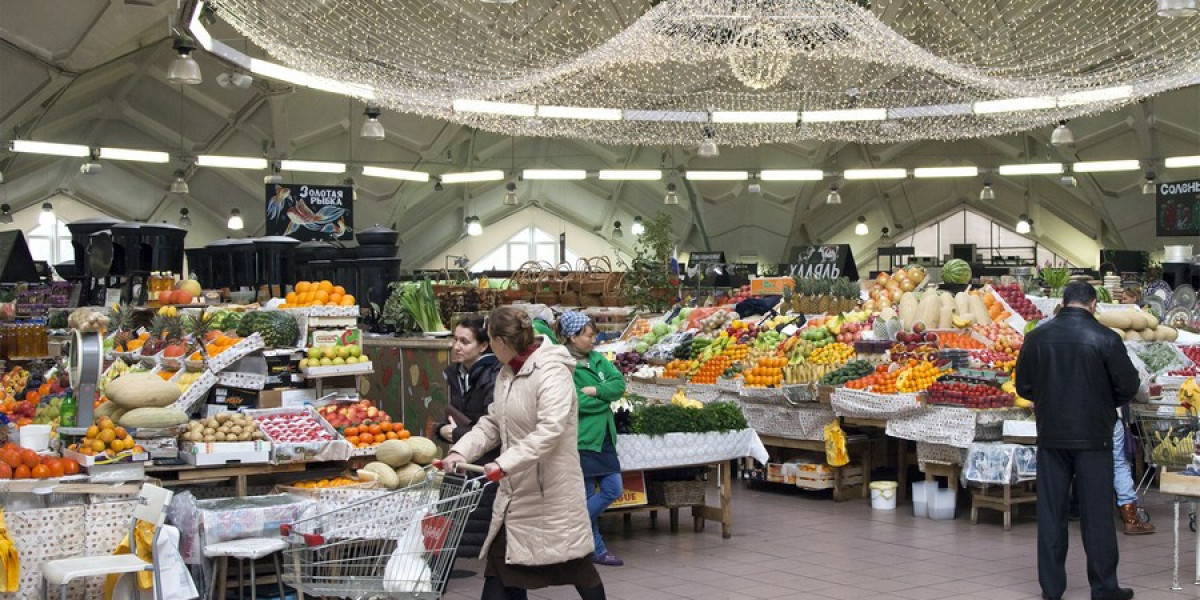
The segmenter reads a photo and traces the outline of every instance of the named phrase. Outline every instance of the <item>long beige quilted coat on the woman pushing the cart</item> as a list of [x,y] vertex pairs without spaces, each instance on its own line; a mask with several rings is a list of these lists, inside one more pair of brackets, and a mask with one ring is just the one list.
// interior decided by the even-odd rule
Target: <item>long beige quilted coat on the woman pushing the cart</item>
[[492,512],[492,528],[480,558],[508,527],[505,562],[557,564],[590,556],[583,473],[580,470],[575,359],[562,346],[544,343],[518,373],[505,365],[496,379],[496,400],[452,451],[474,461],[500,446],[504,469]]

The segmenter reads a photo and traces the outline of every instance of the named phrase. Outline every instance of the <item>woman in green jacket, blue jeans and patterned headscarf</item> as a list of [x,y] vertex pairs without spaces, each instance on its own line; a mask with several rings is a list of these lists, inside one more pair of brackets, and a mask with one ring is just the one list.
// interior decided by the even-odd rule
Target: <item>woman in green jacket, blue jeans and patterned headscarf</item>
[[610,404],[625,395],[625,377],[595,347],[596,326],[582,312],[570,311],[558,319],[558,338],[576,360],[575,391],[580,402],[580,467],[588,493],[588,516],[595,540],[595,563],[625,564],[605,547],[600,514],[620,498],[620,461],[617,458],[617,424]]

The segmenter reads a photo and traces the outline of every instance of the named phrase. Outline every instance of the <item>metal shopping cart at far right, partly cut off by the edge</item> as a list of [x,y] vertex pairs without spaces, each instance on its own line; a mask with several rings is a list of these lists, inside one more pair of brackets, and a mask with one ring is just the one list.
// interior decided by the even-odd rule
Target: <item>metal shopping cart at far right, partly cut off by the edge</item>
[[[1175,406],[1133,404],[1134,436],[1141,445],[1142,456],[1150,466],[1141,475],[1135,492],[1145,499],[1151,484],[1163,469],[1182,470],[1192,466],[1195,455],[1196,432],[1200,431],[1200,418],[1177,414]],[[1139,506],[1144,503],[1139,502]],[[1150,521],[1150,514],[1139,508],[1142,521]],[[1195,514],[1189,518],[1192,530],[1196,530]]]

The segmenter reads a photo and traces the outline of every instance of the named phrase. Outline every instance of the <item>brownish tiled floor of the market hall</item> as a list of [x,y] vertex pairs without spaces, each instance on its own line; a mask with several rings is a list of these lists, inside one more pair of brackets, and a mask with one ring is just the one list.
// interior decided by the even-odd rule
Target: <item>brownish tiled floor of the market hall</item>
[[[740,599],[989,599],[1040,598],[1036,570],[1037,523],[1019,517],[1004,532],[1000,514],[980,511],[971,526],[968,510],[959,500],[959,518],[914,518],[911,505],[894,512],[872,511],[869,502],[834,504],[827,494],[788,488],[764,490],[733,485],[733,538],[709,523],[692,533],[690,518],[680,530],[667,530],[666,516],[658,530],[649,517],[637,515],[629,535],[620,518],[604,522],[608,547],[626,566],[601,566],[608,598],[613,600],[740,600]],[[712,492],[710,492],[712,494]],[[712,499],[712,496],[710,496]],[[1136,598],[1200,599],[1192,583],[1194,538],[1181,528],[1182,592],[1171,592],[1171,504],[1151,497],[1147,504],[1159,533],[1120,535],[1121,584]],[[1022,508],[1031,515],[1032,508]],[[683,511],[686,515],[686,510]],[[1184,517],[1186,521],[1186,517]],[[476,562],[462,568],[481,570]],[[1090,598],[1078,523],[1072,523],[1068,554],[1069,589],[1064,598]],[[445,598],[475,600],[481,577],[451,580]],[[575,599],[572,588],[530,592],[532,599]]]

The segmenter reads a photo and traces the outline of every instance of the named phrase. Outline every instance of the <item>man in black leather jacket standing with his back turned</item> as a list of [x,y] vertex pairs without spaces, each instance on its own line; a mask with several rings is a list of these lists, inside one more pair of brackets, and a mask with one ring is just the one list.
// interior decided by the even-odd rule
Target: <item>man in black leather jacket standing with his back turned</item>
[[1068,283],[1063,308],[1025,338],[1016,391],[1038,420],[1038,580],[1046,599],[1067,589],[1067,503],[1079,493],[1087,580],[1094,600],[1128,600],[1117,586],[1112,522],[1112,427],[1139,377],[1121,336],[1096,320],[1096,289]]

